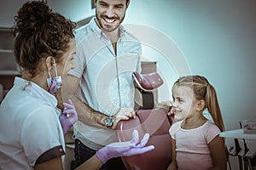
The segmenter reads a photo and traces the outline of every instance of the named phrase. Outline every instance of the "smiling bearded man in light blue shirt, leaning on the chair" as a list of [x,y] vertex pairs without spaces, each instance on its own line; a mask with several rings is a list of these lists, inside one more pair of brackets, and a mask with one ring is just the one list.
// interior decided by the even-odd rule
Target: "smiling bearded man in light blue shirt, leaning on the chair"
[[[79,114],[74,125],[76,166],[115,142],[119,120],[135,116],[133,71],[141,71],[142,46],[121,23],[130,0],[95,0],[96,17],[75,32],[76,68],[69,71],[63,100]],[[64,87],[64,86],[63,86]],[[101,169],[125,169],[120,158]]]

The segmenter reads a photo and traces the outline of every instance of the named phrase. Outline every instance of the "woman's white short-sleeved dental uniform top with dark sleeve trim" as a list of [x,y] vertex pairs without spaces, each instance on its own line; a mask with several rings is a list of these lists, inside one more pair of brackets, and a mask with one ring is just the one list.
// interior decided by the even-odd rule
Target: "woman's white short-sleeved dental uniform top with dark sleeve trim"
[[15,77],[0,105],[0,169],[34,169],[65,154],[55,96]]

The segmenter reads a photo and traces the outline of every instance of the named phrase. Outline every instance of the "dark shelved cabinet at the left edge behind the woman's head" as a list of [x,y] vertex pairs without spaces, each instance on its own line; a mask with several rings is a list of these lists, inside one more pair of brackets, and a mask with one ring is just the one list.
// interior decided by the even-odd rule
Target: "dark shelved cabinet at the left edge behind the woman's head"
[[3,86],[3,95],[13,86],[20,70],[15,62],[15,37],[11,28],[0,27],[0,84]]

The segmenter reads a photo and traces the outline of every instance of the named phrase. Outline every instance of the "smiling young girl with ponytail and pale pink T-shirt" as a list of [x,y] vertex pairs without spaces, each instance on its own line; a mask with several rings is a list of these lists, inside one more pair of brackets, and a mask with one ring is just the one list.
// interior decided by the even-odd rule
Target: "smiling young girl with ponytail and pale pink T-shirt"
[[[176,120],[172,136],[171,169],[226,169],[224,123],[215,89],[201,76],[181,77],[172,87],[171,113]],[[207,109],[213,122],[203,116]]]

